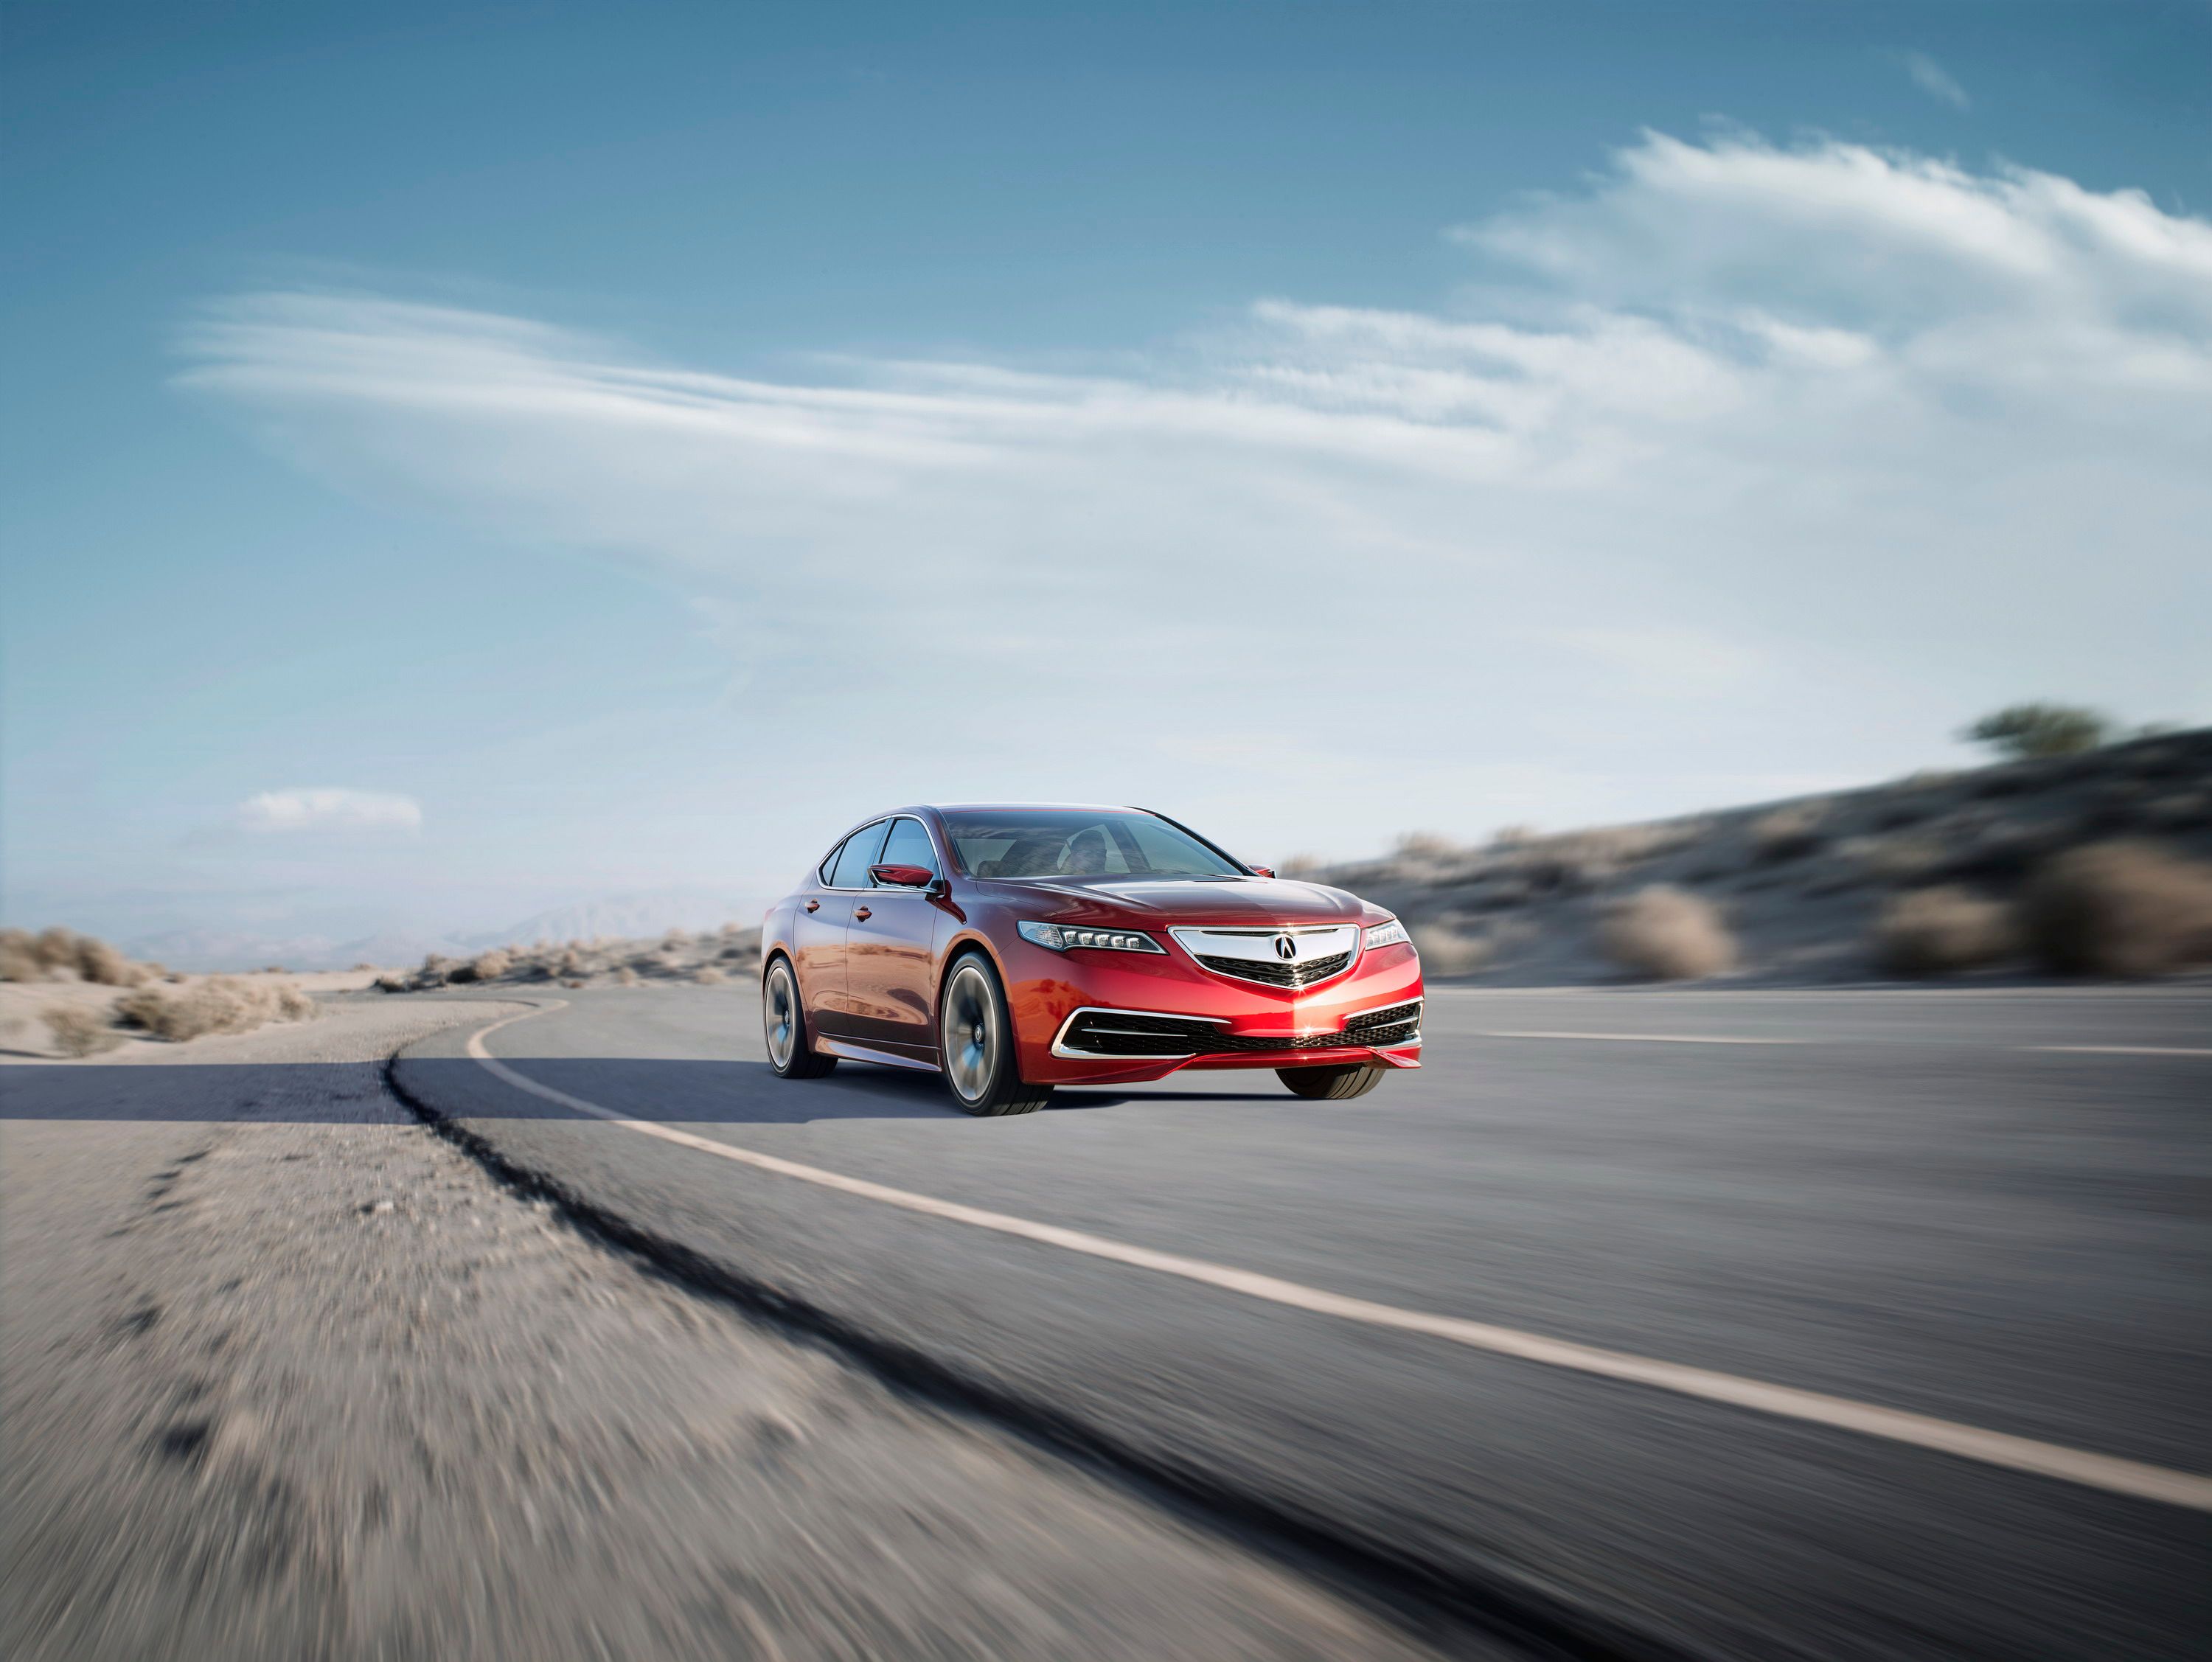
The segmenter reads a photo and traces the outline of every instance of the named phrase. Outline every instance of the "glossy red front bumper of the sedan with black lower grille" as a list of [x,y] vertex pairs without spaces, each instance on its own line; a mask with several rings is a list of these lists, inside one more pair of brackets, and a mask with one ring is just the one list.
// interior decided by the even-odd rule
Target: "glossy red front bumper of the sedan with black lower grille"
[[1363,952],[1345,974],[1298,991],[1219,976],[1175,945],[1152,956],[1018,943],[1009,958],[1022,1078],[1037,1084],[1137,1084],[1225,1067],[1420,1067],[1420,958],[1407,945]]

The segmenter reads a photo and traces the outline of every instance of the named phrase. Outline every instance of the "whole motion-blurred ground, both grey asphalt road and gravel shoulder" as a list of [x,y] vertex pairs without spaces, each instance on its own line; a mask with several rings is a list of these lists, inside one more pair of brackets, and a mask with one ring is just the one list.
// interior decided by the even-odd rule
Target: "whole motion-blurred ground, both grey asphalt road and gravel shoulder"
[[1387,1098],[1022,1120],[562,998],[7,1071],[11,1653],[2201,1653],[2190,1505],[1239,1277],[2201,1483],[2205,989],[1431,991]]

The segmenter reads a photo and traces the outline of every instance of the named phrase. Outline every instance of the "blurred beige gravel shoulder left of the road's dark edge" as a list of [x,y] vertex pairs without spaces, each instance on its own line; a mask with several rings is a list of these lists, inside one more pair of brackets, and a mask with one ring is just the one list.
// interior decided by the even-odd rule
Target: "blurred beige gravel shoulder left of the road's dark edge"
[[0,1651],[1436,1653],[500,1188],[378,1067],[500,1009],[0,1069]]

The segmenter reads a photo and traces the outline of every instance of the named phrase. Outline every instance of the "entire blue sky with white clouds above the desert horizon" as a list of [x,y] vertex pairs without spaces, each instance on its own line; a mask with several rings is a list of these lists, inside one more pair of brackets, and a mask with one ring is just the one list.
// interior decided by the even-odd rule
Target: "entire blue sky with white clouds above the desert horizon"
[[11,923],[2212,715],[2203,4],[195,11],[4,18]]

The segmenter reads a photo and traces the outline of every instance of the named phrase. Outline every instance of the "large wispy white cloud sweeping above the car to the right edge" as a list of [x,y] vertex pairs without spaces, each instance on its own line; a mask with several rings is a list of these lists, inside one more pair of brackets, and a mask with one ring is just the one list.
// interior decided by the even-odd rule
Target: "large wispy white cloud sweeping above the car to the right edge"
[[[1918,759],[2013,695],[2212,693],[2205,221],[1652,133],[1458,237],[1491,270],[1449,310],[1270,299],[1141,372],[770,381],[250,294],[184,381],[354,489],[675,584],[763,730],[807,735],[794,777],[865,759],[885,801],[1294,806],[1358,845],[1480,825],[1500,770],[1544,770],[1557,821]],[[885,752],[891,708],[962,739]]]

